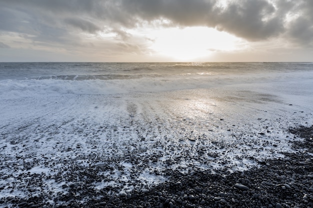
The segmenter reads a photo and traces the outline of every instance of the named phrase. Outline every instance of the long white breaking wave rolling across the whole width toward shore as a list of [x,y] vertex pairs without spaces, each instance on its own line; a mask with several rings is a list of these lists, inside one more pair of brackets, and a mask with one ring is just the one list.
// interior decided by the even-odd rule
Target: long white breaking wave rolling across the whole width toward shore
[[183,74],[183,75],[59,75],[25,80],[0,80],[0,99],[68,94],[108,95],[131,92],[160,92],[222,85],[270,83],[307,79],[308,74]]

